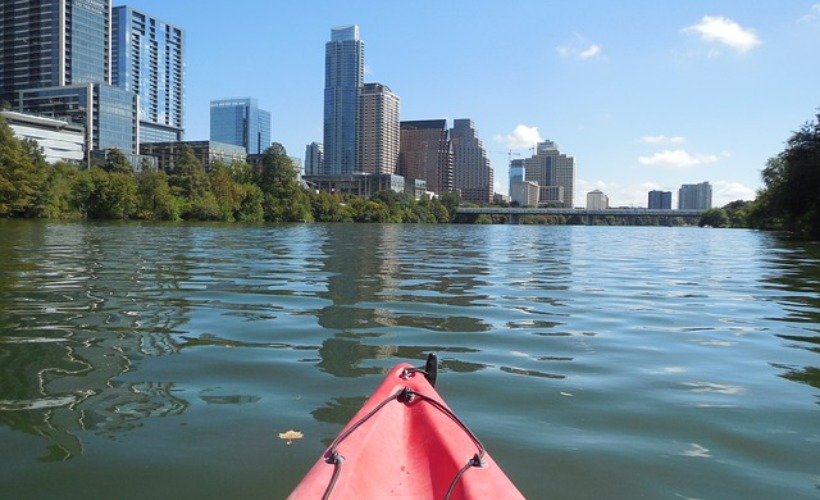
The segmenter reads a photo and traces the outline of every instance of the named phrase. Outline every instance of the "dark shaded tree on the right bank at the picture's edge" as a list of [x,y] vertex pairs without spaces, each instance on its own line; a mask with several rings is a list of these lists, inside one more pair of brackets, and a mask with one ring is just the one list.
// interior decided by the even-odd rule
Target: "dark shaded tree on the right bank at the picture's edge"
[[820,240],[820,114],[767,162],[762,177],[765,186],[750,208],[750,223]]

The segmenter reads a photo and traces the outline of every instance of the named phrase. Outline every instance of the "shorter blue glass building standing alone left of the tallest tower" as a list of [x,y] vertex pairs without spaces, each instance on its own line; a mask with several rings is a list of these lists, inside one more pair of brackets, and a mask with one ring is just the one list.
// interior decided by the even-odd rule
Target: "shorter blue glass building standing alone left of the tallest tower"
[[211,101],[211,140],[262,154],[271,145],[270,112],[252,97]]

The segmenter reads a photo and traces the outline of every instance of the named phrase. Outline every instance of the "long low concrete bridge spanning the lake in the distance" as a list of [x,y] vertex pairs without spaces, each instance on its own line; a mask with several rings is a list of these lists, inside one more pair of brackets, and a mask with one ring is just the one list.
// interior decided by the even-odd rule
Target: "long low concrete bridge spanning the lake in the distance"
[[700,218],[705,210],[664,210],[655,208],[607,208],[605,210],[587,210],[585,208],[502,208],[502,207],[458,207],[459,215],[500,215],[507,218],[510,224],[517,224],[522,215],[562,215],[564,217],[579,216],[586,224],[592,225],[595,217],[623,217],[627,224],[635,218],[659,218],[671,224],[673,218]]

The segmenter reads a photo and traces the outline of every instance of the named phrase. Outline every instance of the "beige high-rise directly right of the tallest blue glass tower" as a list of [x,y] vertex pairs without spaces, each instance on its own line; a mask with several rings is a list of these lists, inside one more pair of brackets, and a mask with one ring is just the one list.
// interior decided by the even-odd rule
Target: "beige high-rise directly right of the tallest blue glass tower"
[[362,87],[357,172],[395,174],[399,165],[399,97],[380,83]]

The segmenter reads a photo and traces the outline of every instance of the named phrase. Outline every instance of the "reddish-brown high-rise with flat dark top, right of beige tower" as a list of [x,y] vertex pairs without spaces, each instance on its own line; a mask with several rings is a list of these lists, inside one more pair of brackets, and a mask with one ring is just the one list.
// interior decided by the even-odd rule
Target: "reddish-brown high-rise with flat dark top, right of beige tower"
[[399,175],[422,179],[437,194],[453,190],[453,148],[447,120],[401,122]]

